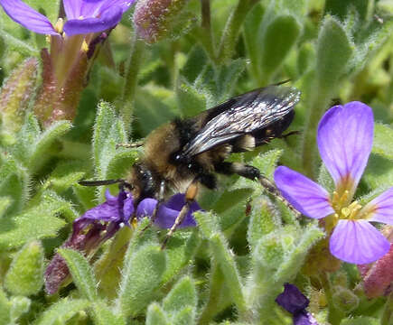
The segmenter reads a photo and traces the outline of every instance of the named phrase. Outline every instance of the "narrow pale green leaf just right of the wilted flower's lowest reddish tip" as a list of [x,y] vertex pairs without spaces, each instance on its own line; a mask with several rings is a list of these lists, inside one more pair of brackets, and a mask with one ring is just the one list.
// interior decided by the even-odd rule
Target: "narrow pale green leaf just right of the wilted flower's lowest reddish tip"
[[97,282],[86,258],[72,249],[60,248],[58,253],[65,259],[72,279],[83,298],[94,302],[98,299]]

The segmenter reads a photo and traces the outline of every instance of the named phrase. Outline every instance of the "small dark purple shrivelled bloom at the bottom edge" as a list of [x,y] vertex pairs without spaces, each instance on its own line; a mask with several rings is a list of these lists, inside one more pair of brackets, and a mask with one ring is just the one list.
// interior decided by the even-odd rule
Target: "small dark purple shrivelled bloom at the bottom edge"
[[318,325],[313,316],[306,311],[310,301],[294,284],[284,284],[284,292],[277,296],[276,303],[293,315],[294,325]]

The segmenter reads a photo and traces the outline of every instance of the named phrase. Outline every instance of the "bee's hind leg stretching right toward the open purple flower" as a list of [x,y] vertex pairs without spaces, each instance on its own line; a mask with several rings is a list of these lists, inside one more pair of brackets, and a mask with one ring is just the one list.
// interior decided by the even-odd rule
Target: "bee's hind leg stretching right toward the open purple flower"
[[256,167],[246,165],[243,163],[220,163],[215,166],[216,172],[224,173],[224,174],[238,174],[239,176],[248,178],[248,180],[258,181],[265,190],[267,190],[270,194],[274,195],[276,199],[282,201],[285,206],[294,212],[295,217],[299,218],[301,213],[296,210],[291,203],[289,203],[285,198],[281,195],[280,191],[276,188],[276,185],[269,181],[266,176],[264,176]]

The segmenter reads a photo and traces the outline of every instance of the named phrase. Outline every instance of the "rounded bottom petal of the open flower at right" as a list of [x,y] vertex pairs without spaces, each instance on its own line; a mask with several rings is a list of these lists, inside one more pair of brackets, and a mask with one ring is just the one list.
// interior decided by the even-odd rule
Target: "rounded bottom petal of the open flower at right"
[[366,220],[339,220],[330,239],[332,255],[352,264],[368,264],[388,253],[388,240]]

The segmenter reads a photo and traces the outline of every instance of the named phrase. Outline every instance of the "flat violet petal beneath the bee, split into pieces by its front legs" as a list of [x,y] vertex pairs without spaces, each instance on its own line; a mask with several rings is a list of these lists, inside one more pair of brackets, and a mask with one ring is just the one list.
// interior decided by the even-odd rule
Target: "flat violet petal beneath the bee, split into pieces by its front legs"
[[[150,218],[153,215],[156,204],[157,200],[154,199],[142,200],[136,208],[136,218]],[[184,194],[173,195],[171,199],[168,200],[168,202],[165,202],[158,209],[157,218],[155,219],[154,224],[156,224],[160,228],[171,228],[173,226],[174,220],[179,215],[179,212],[184,204]],[[179,228],[195,227],[196,222],[194,218],[192,218],[192,213],[199,209],[201,209],[199,204],[196,201],[192,202],[190,211],[187,213]]]

